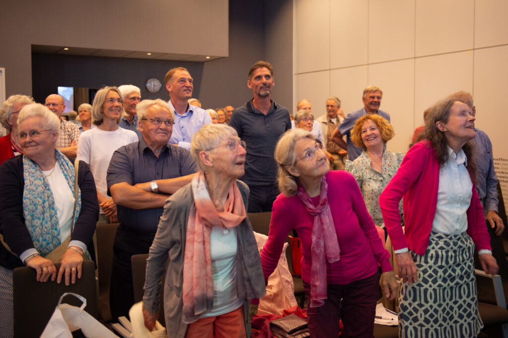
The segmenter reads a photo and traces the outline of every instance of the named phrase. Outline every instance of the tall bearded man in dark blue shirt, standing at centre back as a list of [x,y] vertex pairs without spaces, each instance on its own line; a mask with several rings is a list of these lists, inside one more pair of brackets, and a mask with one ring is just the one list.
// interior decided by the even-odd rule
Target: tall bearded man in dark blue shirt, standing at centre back
[[235,109],[229,121],[247,144],[245,175],[240,179],[250,189],[249,213],[272,211],[273,201],[279,194],[273,153],[281,134],[291,129],[291,119],[285,107],[271,100],[274,85],[272,65],[266,61],[256,62],[247,79],[253,98]]

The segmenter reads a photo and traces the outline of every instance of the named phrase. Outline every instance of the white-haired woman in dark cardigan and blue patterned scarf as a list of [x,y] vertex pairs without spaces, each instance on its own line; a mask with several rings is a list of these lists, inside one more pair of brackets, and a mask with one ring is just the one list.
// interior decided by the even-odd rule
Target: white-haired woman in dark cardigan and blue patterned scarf
[[[1,336],[13,330],[12,269],[26,264],[39,282],[75,283],[83,256],[94,256],[99,215],[88,165],[79,162],[78,171],[55,149],[56,115],[43,105],[26,105],[17,123],[23,155],[0,166],[0,228],[8,245],[0,246]],[[54,261],[61,261],[58,272]]]

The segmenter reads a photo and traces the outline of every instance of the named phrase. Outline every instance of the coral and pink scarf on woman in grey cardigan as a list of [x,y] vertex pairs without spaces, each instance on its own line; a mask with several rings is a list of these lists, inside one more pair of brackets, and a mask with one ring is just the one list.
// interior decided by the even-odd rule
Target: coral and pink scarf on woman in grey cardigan
[[[229,189],[224,212],[217,212],[208,193],[205,175],[192,179],[194,204],[190,207],[183,261],[182,321],[193,323],[213,308],[213,278],[210,257],[212,226],[233,228],[245,219],[245,207],[236,183]],[[203,259],[204,258],[204,259]]]

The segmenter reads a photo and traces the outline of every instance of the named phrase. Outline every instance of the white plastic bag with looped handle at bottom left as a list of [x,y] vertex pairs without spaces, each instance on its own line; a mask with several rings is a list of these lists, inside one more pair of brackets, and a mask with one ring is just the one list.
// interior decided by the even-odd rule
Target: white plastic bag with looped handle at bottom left
[[[63,297],[73,295],[79,298],[83,304],[80,308],[69,304],[60,304]],[[72,338],[72,331],[81,329],[88,338],[117,338],[117,336],[93,318],[83,309],[86,307],[86,299],[77,293],[66,292],[58,300],[53,315],[49,319],[41,338]]]

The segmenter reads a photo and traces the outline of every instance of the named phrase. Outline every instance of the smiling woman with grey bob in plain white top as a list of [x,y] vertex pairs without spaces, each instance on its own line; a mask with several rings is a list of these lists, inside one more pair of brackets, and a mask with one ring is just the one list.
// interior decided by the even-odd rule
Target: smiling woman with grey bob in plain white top
[[118,127],[123,114],[123,101],[118,88],[100,89],[93,99],[91,113],[97,128],[81,134],[76,159],[88,163],[95,179],[101,207],[99,223],[115,223],[118,221],[116,205],[108,196],[106,182],[109,161],[116,149],[139,139],[134,131]]

